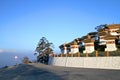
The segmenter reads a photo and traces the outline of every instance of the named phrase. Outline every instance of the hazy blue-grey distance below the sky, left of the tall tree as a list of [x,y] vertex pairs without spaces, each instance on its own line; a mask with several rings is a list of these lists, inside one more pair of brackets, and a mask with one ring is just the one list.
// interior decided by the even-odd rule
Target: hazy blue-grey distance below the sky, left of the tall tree
[[[17,56],[17,59],[15,59]],[[28,57],[30,61],[35,61],[36,56],[32,52],[1,52],[0,68],[4,66],[13,66],[22,63],[24,57]]]

